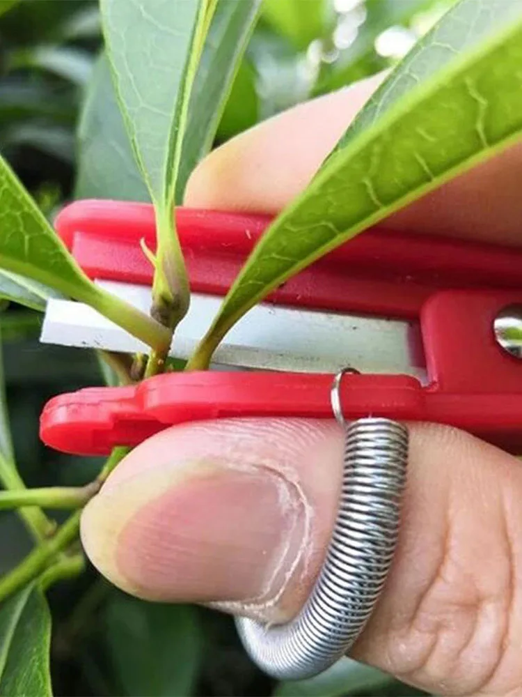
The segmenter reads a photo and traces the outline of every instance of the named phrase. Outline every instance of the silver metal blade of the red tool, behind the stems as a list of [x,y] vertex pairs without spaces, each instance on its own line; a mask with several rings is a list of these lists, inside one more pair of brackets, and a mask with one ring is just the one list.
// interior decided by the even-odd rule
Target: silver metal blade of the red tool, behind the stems
[[[149,311],[151,291],[147,286],[97,283],[143,312]],[[189,358],[222,300],[193,294],[171,355]],[[264,304],[251,309],[228,332],[213,360],[217,366],[298,372],[336,372],[351,366],[361,372],[403,373],[423,380],[425,369],[411,357],[414,328],[403,321]],[[41,341],[123,353],[149,351],[88,305],[68,300],[49,301]]]

